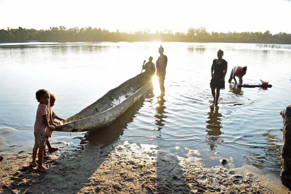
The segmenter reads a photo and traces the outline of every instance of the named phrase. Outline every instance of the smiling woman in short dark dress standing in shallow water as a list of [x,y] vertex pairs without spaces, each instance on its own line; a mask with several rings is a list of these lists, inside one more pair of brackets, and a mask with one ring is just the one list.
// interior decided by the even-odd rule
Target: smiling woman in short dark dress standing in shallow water
[[[220,89],[225,88],[225,75],[227,72],[227,61],[222,59],[223,51],[217,51],[217,59],[214,59],[211,66],[211,81],[210,88],[213,96],[213,102],[218,103]],[[216,89],[216,95],[215,95]]]

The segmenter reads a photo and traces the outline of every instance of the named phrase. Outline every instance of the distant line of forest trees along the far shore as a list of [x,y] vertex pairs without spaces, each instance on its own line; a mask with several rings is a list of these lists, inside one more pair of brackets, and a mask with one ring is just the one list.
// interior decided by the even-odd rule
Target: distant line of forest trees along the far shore
[[291,34],[270,31],[262,32],[207,32],[205,27],[189,28],[186,33],[165,30],[150,33],[149,30],[125,33],[117,30],[110,32],[101,28],[69,28],[64,26],[50,27],[47,30],[26,29],[1,29],[1,43],[23,43],[37,40],[40,42],[137,42],[137,41],[162,41],[162,42],[217,42],[217,43],[283,43],[291,44]]

